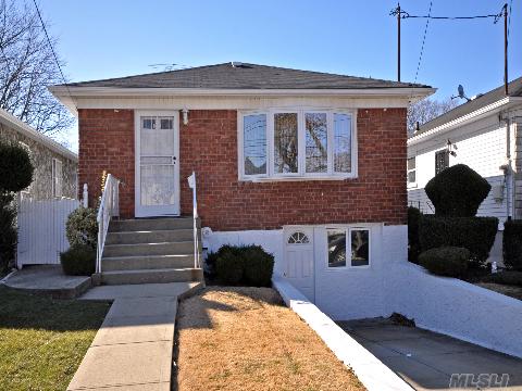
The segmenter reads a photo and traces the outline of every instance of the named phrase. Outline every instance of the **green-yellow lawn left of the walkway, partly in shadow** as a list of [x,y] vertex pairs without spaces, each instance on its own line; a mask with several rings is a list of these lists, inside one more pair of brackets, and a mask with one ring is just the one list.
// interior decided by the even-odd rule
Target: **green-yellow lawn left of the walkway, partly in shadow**
[[0,390],[65,390],[109,307],[0,286]]

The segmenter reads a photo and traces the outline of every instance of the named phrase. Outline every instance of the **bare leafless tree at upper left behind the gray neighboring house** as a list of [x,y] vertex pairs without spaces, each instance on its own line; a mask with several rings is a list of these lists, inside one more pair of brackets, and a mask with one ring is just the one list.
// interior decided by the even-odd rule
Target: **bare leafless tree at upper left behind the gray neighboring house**
[[72,116],[48,91],[62,84],[37,11],[18,0],[0,0],[0,108],[53,135],[72,124]]

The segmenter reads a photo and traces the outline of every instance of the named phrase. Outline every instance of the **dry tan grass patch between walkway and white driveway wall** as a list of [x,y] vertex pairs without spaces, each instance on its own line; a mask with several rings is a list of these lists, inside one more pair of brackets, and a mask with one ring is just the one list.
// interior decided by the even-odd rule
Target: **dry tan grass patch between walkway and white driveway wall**
[[364,390],[269,288],[207,288],[181,303],[176,335],[179,391]]

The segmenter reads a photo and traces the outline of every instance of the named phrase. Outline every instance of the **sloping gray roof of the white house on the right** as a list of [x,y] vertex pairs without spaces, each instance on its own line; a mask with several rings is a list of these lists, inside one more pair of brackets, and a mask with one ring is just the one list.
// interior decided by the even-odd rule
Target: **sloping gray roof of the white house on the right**
[[[509,92],[509,97],[522,97],[522,77],[519,77],[508,84],[508,92]],[[453,110],[450,110],[449,112],[443,115],[439,115],[438,117],[425,123],[424,125],[421,125],[420,129],[414,134],[412,134],[410,138],[417,135],[420,135],[424,131],[434,129],[448,122],[460,118],[463,115],[470,114],[488,104],[499,101],[502,98],[506,98],[504,85],[484,93],[483,96],[478,96],[477,98],[469,102],[458,105]]]

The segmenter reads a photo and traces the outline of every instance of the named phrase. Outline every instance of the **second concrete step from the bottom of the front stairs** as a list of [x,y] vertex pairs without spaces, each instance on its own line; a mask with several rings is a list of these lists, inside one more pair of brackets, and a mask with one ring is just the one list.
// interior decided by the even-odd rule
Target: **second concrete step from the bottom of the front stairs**
[[194,254],[114,256],[101,260],[103,272],[194,267]]

